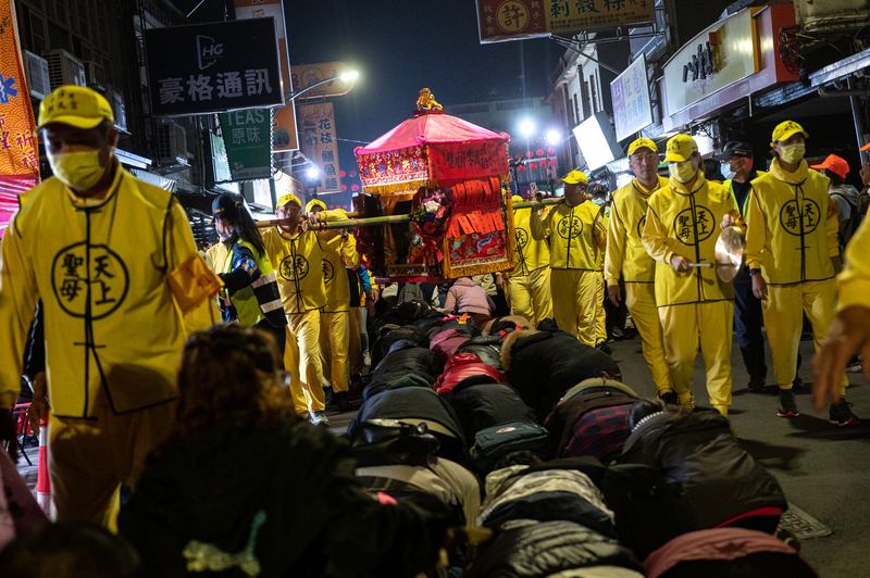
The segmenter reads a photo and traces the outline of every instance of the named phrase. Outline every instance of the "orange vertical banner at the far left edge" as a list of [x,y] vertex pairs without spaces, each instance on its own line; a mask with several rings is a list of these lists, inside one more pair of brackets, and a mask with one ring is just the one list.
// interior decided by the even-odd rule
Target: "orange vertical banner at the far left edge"
[[36,122],[24,80],[12,0],[0,0],[0,237],[17,194],[39,181]]

